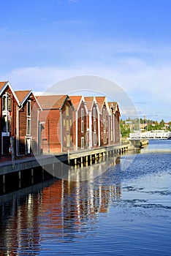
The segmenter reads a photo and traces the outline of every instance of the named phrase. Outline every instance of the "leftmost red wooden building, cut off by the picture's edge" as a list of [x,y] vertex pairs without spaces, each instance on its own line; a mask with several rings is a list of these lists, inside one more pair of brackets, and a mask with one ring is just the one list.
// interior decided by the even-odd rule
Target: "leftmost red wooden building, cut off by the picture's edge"
[[0,82],[0,156],[15,153],[18,105],[18,98],[9,81]]

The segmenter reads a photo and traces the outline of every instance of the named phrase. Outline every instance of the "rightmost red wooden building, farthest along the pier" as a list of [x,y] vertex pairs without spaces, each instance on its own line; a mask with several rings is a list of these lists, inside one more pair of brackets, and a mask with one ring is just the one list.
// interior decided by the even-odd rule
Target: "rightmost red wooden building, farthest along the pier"
[[121,143],[120,136],[120,110],[117,102],[108,102],[111,117],[110,117],[110,144]]

